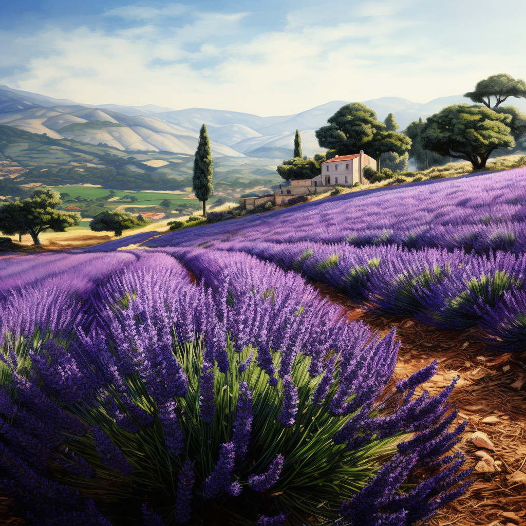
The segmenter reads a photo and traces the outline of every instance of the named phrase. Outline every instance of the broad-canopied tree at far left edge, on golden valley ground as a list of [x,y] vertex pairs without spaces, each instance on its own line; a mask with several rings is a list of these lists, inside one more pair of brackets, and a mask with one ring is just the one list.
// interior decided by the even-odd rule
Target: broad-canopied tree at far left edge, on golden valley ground
[[53,190],[35,190],[31,197],[0,207],[0,230],[8,236],[29,234],[40,245],[39,234],[48,228],[64,232],[79,224],[77,214],[55,210],[62,204]]

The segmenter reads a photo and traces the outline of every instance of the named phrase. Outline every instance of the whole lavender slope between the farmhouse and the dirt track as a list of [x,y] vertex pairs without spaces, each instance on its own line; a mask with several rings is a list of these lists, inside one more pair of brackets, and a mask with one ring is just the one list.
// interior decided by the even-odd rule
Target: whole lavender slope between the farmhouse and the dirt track
[[526,168],[346,194],[144,246],[243,251],[373,309],[526,350]]

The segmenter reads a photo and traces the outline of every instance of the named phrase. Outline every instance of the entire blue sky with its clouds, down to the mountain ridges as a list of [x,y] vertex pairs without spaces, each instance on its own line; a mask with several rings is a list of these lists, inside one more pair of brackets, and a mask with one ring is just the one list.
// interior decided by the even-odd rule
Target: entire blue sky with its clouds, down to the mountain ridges
[[81,103],[286,115],[526,77],[524,0],[0,4],[0,83]]

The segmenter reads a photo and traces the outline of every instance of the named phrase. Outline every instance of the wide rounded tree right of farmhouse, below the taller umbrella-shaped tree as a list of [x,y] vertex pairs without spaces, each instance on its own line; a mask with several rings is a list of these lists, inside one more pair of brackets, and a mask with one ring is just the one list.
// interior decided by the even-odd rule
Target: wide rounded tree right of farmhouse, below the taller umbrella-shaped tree
[[439,155],[471,162],[484,168],[497,148],[515,146],[526,131],[526,115],[514,106],[489,109],[454,104],[428,117],[422,129],[422,146]]

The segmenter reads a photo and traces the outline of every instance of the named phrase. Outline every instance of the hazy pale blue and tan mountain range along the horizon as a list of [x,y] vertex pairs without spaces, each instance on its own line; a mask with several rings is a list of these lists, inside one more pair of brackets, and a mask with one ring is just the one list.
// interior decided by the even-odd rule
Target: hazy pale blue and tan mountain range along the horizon
[[[525,99],[509,99],[526,111]],[[426,104],[400,97],[365,100],[379,120],[393,113],[404,129],[419,117],[425,119],[450,104],[470,103],[462,95],[440,97]],[[106,144],[121,150],[173,151],[194,154],[203,123],[207,125],[215,157],[260,157],[275,160],[290,158],[294,133],[301,133],[305,155],[325,151],[318,146],[315,130],[345,100],[334,100],[295,115],[259,117],[239,112],[204,108],[172,110],[153,104],[80,104],[68,99],[24,92],[0,85],[0,124],[90,144]]]

